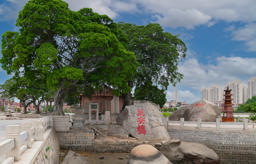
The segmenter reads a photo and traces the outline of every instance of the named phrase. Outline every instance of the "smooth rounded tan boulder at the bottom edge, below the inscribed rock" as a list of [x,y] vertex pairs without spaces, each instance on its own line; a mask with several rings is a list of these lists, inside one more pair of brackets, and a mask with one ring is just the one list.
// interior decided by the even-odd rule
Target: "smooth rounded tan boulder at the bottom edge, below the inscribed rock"
[[151,145],[142,144],[131,150],[128,164],[172,164],[163,154]]

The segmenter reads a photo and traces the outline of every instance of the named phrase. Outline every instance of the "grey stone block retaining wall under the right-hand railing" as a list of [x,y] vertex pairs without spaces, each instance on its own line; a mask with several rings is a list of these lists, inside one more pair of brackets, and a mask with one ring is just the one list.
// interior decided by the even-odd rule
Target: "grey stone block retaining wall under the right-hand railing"
[[167,128],[171,138],[204,144],[221,158],[221,164],[256,164],[256,131]]

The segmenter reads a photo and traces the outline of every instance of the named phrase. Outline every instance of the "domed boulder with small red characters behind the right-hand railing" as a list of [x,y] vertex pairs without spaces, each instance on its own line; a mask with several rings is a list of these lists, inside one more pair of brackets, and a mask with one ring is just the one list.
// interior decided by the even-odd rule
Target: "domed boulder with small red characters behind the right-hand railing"
[[216,122],[216,118],[221,120],[222,116],[216,104],[202,99],[174,111],[169,116],[169,121],[180,121],[180,118],[184,118],[184,121],[197,121],[197,118],[202,118],[203,122]]

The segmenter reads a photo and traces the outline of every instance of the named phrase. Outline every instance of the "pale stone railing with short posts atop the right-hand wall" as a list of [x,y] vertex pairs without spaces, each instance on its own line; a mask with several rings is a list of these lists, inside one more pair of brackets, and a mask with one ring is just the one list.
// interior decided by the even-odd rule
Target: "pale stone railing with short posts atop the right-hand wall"
[[197,118],[197,121],[184,121],[184,118],[180,118],[180,121],[168,121],[168,117],[165,118],[166,127],[179,127],[179,128],[213,128],[213,129],[255,129],[256,123],[248,123],[248,119],[243,119],[243,122],[225,123],[220,122],[217,118],[216,122],[202,122],[201,118]]

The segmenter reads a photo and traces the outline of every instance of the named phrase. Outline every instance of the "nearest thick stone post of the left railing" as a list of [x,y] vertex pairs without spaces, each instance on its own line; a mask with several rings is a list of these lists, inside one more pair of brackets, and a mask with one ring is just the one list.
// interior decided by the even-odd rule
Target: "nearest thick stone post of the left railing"
[[6,152],[5,159],[8,157],[14,157],[14,161],[18,161],[21,156],[21,125],[7,125],[5,128],[5,138],[15,139],[15,147],[11,149],[9,152]]

